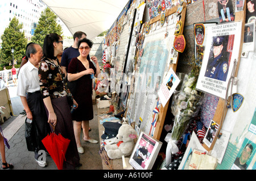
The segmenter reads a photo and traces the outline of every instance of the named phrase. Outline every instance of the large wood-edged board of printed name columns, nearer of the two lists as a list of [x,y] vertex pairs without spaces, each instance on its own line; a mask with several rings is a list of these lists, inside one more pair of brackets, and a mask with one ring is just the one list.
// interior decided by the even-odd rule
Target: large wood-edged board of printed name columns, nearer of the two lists
[[[168,70],[172,68],[176,70],[176,64],[171,64],[169,58],[171,48],[175,36],[172,36],[176,28],[176,23],[169,23],[172,14],[178,9],[178,6],[169,9],[165,16],[168,17],[168,23],[164,23],[160,27],[160,15],[151,19],[149,24],[152,28],[148,35],[144,36],[143,54],[139,64],[139,69],[134,72],[134,82],[130,89],[129,106],[126,110],[126,119],[133,123],[135,122],[135,129],[140,129],[147,134],[153,135],[159,140],[162,132],[164,119],[168,107],[159,107],[158,122],[153,125],[154,113],[152,112],[158,105],[157,86],[161,85],[163,78]],[[180,21],[184,23],[186,5],[183,3],[183,11],[180,13]],[[166,32],[168,36],[166,37]],[[180,34],[183,33],[183,26]],[[156,50],[155,50],[156,49]],[[179,54],[177,54],[177,57]],[[154,58],[154,60],[152,59]],[[145,106],[146,105],[146,106]]]

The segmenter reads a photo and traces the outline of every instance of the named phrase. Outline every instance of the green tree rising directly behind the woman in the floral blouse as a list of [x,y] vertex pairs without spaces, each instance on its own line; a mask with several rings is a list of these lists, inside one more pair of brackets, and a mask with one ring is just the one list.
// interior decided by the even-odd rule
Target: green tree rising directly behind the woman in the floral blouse
[[62,35],[63,30],[60,24],[57,24],[57,16],[49,9],[49,7],[47,7],[44,11],[42,11],[31,41],[38,43],[41,45],[41,47],[43,47],[44,38],[49,33],[57,33],[58,35]]

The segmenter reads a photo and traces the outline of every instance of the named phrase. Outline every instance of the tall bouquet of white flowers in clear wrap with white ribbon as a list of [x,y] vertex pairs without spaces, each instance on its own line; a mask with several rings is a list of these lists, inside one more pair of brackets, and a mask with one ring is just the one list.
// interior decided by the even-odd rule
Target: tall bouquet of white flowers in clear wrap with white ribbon
[[174,93],[174,100],[171,105],[171,111],[175,117],[172,132],[168,133],[164,139],[168,142],[166,151],[167,165],[171,163],[171,154],[179,151],[176,144],[188,128],[192,117],[197,116],[204,100],[203,92],[195,90],[200,64],[195,59],[192,59],[191,62],[192,73],[184,76],[181,89]]

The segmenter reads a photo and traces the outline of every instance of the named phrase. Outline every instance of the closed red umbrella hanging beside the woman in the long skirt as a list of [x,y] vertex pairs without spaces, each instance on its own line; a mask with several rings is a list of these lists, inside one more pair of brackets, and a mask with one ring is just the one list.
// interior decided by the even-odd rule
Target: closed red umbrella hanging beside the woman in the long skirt
[[65,154],[68,149],[70,140],[64,138],[61,134],[55,134],[53,131],[53,133],[50,133],[45,138],[43,138],[42,142],[48,153],[51,155],[58,170],[62,170]]

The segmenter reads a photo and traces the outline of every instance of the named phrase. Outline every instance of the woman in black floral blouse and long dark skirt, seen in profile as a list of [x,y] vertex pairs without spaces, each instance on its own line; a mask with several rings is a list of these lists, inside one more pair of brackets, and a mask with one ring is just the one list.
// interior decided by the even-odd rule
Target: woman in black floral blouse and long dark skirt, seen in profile
[[[39,84],[43,95],[48,123],[56,134],[61,134],[70,140],[63,169],[75,169],[81,166],[73,131],[72,116],[67,100],[67,90],[64,85],[64,73],[61,70],[57,54],[63,51],[63,40],[60,35],[46,35],[43,45],[43,60],[39,64]],[[75,102],[75,100],[74,100]],[[75,102],[76,103],[76,102]]]

